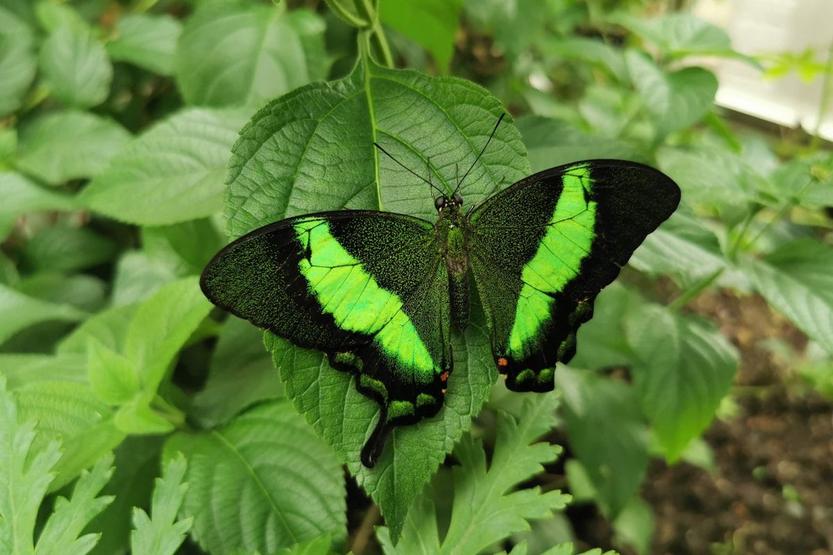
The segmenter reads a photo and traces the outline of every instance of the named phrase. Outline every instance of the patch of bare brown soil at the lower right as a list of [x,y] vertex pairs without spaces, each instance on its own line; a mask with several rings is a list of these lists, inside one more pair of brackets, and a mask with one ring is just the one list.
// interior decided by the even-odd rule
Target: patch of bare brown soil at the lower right
[[651,553],[833,553],[833,404],[761,346],[781,339],[801,351],[805,339],[757,296],[704,295],[689,308],[741,350],[739,409],[704,436],[713,473],[651,464],[642,488],[655,512]]

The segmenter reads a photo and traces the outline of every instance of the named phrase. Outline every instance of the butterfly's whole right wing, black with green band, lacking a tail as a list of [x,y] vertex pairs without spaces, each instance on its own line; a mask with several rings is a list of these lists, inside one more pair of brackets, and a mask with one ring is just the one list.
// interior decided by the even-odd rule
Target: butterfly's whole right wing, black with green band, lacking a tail
[[553,389],[596,295],[679,201],[651,167],[596,160],[529,176],[474,211],[469,260],[507,387]]

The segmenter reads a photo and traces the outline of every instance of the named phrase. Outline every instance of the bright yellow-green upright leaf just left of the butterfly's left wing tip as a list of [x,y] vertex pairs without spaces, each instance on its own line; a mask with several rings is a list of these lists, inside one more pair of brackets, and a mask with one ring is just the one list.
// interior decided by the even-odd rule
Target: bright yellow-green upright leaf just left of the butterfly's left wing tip
[[127,328],[124,355],[138,370],[142,391],[156,393],[168,366],[211,309],[195,277],[165,285],[139,306]]

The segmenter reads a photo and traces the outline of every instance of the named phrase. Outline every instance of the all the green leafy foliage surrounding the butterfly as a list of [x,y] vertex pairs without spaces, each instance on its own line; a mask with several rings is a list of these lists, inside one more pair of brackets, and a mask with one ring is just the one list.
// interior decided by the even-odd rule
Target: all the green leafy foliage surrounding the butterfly
[[[299,3],[0,2],[0,552],[358,550],[373,523],[353,528],[344,465],[385,553],[567,555],[569,535],[541,533],[570,501],[540,488],[561,449],[533,443],[561,428],[571,503],[647,553],[648,461],[708,462],[699,435],[741,357],[689,310],[716,288],[803,331],[779,352],[833,396],[833,156],[713,105],[704,56],[760,67],[726,32],[638,0]],[[762,61],[811,80],[830,72],[816,58]],[[427,186],[373,141],[452,190],[507,107],[467,205],[609,157],[666,172],[680,210],[599,296],[560,404],[492,388],[476,309],[444,409],[364,468],[376,404],[321,353],[212,312],[197,275],[286,216],[432,220]]]

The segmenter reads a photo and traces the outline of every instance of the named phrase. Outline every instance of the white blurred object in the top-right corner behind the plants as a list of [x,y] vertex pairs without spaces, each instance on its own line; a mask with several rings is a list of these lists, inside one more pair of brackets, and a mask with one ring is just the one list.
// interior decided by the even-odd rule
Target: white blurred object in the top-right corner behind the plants
[[[726,29],[732,47],[751,56],[798,54],[809,47],[818,61],[825,62],[833,42],[833,0],[699,0],[693,12]],[[768,78],[736,60],[721,60],[716,72],[718,105],[782,126],[816,131],[821,72],[812,82],[802,81],[795,72]],[[819,133],[833,140],[833,102],[828,102]]]

